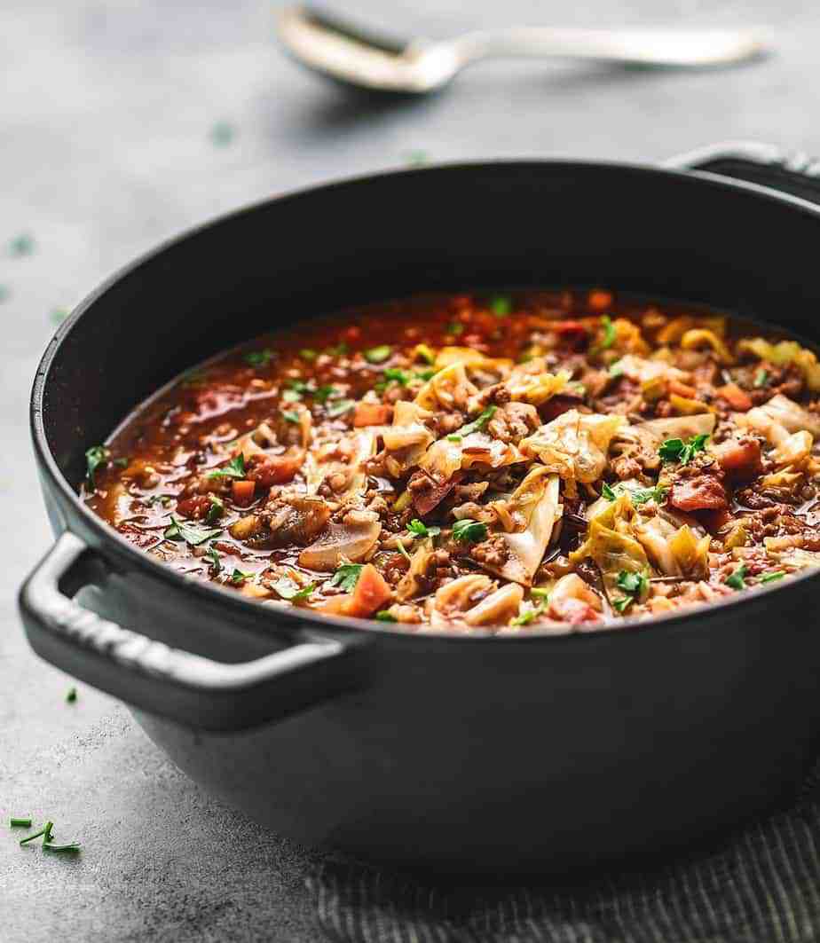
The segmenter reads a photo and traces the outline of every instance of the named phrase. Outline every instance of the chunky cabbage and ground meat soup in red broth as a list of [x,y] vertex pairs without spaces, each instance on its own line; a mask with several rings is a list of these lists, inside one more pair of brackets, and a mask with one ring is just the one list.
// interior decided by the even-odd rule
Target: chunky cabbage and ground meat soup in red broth
[[179,377],[89,443],[83,497],[260,605],[587,632],[820,562],[818,395],[812,351],[697,306],[427,295]]

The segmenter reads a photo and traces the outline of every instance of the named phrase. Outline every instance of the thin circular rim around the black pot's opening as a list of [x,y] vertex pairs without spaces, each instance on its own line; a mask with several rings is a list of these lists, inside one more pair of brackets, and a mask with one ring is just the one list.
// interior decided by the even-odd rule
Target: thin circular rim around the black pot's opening
[[[401,644],[427,644],[436,647],[450,647],[453,645],[470,644],[475,645],[482,641],[492,641],[495,646],[498,645],[521,645],[527,642],[542,641],[552,645],[567,643],[583,643],[580,639],[604,639],[612,637],[615,634],[623,634],[628,629],[630,634],[653,632],[659,630],[673,630],[685,627],[694,622],[709,622],[718,618],[729,606],[748,606],[755,603],[761,603],[764,596],[772,592],[779,592],[787,587],[793,587],[796,582],[805,582],[808,580],[820,579],[820,570],[812,571],[807,569],[805,572],[796,573],[789,578],[786,584],[773,584],[770,586],[755,587],[753,593],[735,593],[727,599],[714,603],[704,604],[703,606],[689,607],[679,613],[669,613],[666,615],[652,616],[642,618],[640,616],[628,617],[620,620],[618,623],[601,629],[594,629],[589,632],[578,632],[572,629],[565,631],[553,630],[527,630],[520,635],[505,634],[497,635],[492,632],[476,632],[469,635],[456,635],[433,632],[411,633],[392,627],[392,623],[382,623],[377,620],[362,620],[352,617],[330,616],[324,613],[300,609],[292,606],[277,606],[275,610],[276,621],[284,620],[290,625],[282,626],[271,620],[271,612],[266,607],[259,605],[258,601],[247,599],[239,593],[229,590],[226,587],[220,587],[214,583],[201,583],[188,580],[181,573],[172,570],[170,567],[163,566],[159,560],[155,560],[149,554],[145,554],[136,548],[130,541],[120,535],[107,521],[95,515],[92,510],[82,502],[79,495],[75,493],[68,480],[59,470],[57,461],[49,447],[44,425],[42,422],[42,400],[44,390],[48,383],[49,371],[52,363],[58,355],[63,341],[69,336],[75,323],[94,306],[117,282],[126,276],[137,272],[143,265],[153,261],[161,256],[167,250],[173,248],[177,243],[191,239],[215,228],[223,223],[237,220],[245,214],[253,213],[262,207],[270,206],[279,202],[298,199],[307,195],[320,195],[344,187],[355,187],[360,184],[367,184],[377,179],[389,177],[410,177],[434,174],[456,174],[460,172],[477,171],[482,168],[544,168],[544,169],[579,169],[582,171],[623,171],[628,174],[638,174],[646,177],[661,176],[672,179],[686,179],[690,183],[698,186],[711,187],[718,190],[740,190],[745,191],[754,199],[761,199],[766,202],[779,204],[784,207],[791,207],[795,211],[811,215],[814,219],[820,219],[820,206],[812,204],[808,200],[793,196],[789,193],[773,190],[763,187],[760,184],[749,183],[745,180],[728,178],[720,174],[711,174],[702,171],[687,171],[671,167],[659,166],[648,163],[632,163],[617,160],[571,160],[567,158],[496,158],[481,160],[461,160],[458,162],[433,164],[425,167],[407,168],[407,169],[387,169],[370,174],[359,174],[351,177],[344,177],[341,180],[331,180],[326,183],[313,184],[307,187],[301,187],[297,190],[287,190],[273,197],[267,197],[257,200],[253,203],[245,204],[237,209],[229,210],[219,216],[209,218],[203,223],[196,223],[176,235],[165,240],[161,240],[158,245],[137,256],[130,262],[126,262],[117,271],[110,274],[95,289],[82,298],[72,309],[68,318],[65,319],[49,341],[45,351],[42,354],[37,372],[31,389],[29,401],[29,422],[31,438],[34,445],[35,456],[38,460],[40,469],[49,479],[52,487],[57,488],[64,499],[74,505],[85,525],[92,533],[99,538],[101,544],[106,547],[107,553],[110,552],[115,557],[121,557],[126,560],[128,569],[137,568],[142,571],[146,577],[159,579],[169,588],[181,592],[190,592],[195,597],[201,598],[203,603],[225,605],[229,612],[242,617],[243,622],[259,622],[259,620],[269,620],[265,627],[268,635],[275,635],[280,628],[289,628],[291,631],[304,630],[307,627],[316,629],[336,629],[342,630],[345,635],[356,635],[366,637],[380,637],[382,640],[390,640]],[[70,529],[70,528],[68,528]],[[387,638],[384,638],[387,637]]]

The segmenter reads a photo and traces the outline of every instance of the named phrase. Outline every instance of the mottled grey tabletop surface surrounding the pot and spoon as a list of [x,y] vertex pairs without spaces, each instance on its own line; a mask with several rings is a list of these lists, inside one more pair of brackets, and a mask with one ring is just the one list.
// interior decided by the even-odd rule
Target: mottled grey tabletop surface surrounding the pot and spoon
[[[50,542],[26,407],[53,310],[192,223],[398,166],[415,151],[432,161],[655,159],[758,139],[820,153],[820,13],[811,6],[349,0],[346,10],[376,25],[423,35],[513,21],[778,26],[777,58],[732,72],[494,63],[442,96],[362,111],[279,54],[263,0],[3,0],[0,939],[317,938],[309,852],[203,795],[120,704],[85,687],[64,703],[70,679],[26,648],[15,592]],[[210,138],[221,121],[235,131],[226,146]],[[34,251],[14,257],[9,242],[23,233]],[[19,848],[6,823],[24,813],[54,819],[60,839],[82,841],[82,855]]]

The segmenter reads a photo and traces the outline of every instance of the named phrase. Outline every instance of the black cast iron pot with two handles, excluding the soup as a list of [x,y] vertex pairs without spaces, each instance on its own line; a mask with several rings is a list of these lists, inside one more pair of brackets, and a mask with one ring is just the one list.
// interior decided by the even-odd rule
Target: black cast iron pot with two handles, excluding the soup
[[778,802],[820,730],[820,574],[598,633],[413,636],[186,581],[76,488],[85,450],[176,373],[279,323],[308,339],[311,316],[340,306],[602,285],[816,337],[813,171],[760,145],[677,169],[436,167],[281,197],[161,246],[76,308],[35,379],[60,536],[21,592],[32,647],[136,708],[181,769],[259,822],[373,860],[592,866]]

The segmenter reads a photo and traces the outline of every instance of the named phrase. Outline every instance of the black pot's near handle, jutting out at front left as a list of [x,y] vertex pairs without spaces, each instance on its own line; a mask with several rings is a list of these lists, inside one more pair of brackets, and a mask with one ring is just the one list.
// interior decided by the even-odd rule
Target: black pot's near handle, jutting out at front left
[[305,635],[283,651],[226,664],[102,619],[64,591],[91,582],[83,564],[94,560],[98,554],[74,534],[58,539],[20,591],[25,631],[46,661],[127,703],[188,726],[236,731],[278,720],[355,679],[349,655],[358,646],[338,638]]

